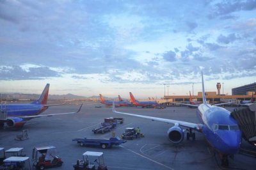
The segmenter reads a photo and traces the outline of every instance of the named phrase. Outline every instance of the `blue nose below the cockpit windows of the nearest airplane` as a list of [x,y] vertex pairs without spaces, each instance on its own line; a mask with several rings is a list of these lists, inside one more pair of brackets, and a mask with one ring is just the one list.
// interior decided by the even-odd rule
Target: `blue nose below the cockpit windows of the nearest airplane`
[[219,135],[221,138],[221,152],[226,154],[234,154],[239,151],[241,144],[241,132],[228,131],[225,134]]

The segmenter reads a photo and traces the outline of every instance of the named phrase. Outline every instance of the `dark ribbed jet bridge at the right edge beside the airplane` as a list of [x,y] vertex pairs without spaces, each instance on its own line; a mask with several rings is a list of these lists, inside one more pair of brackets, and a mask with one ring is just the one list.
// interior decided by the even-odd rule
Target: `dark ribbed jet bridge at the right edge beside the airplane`
[[243,109],[234,109],[231,115],[237,120],[243,138],[256,146],[256,103],[248,104]]

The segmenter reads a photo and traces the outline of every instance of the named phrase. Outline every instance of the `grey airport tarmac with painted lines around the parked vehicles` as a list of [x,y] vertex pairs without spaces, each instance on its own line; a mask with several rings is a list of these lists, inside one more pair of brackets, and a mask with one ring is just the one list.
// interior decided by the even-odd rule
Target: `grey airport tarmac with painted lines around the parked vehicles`
[[[8,150],[13,147],[24,148],[31,160],[35,146],[56,146],[63,166],[53,169],[74,169],[77,159],[82,159],[85,151],[102,151],[108,169],[221,169],[220,158],[213,154],[204,136],[196,132],[196,141],[184,141],[173,144],[168,140],[167,130],[172,124],[145,120],[133,116],[114,114],[111,107],[95,108],[99,103],[84,103],[81,112],[73,115],[52,116],[29,120],[21,129],[1,129],[0,147]],[[50,107],[42,114],[76,111],[79,105],[61,105]],[[228,108],[232,110],[232,108]],[[159,118],[189,121],[198,123],[196,109],[188,107],[167,107],[166,109],[141,109],[140,107],[118,107],[117,111],[143,114]],[[127,141],[122,146],[111,149],[79,146],[74,138],[109,139],[111,132],[93,134],[92,129],[99,127],[104,118],[124,118],[124,123],[113,130],[121,135],[127,127],[140,127],[145,137]],[[28,130],[28,140],[17,141],[15,137],[22,130]],[[234,159],[229,158],[230,169],[256,169],[256,158],[237,153]]]

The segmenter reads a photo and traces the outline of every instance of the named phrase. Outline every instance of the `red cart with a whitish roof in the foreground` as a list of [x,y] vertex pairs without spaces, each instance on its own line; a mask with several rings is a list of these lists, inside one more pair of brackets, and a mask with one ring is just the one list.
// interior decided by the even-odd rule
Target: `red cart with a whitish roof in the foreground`
[[[40,155],[38,155],[40,154]],[[37,169],[57,167],[63,164],[55,146],[35,147],[32,153],[33,166]]]

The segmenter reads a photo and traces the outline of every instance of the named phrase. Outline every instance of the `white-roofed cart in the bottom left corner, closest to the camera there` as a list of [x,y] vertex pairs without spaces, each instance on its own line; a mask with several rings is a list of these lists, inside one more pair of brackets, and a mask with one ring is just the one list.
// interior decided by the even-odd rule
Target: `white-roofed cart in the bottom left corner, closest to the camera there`
[[31,169],[29,157],[9,157],[3,160],[3,169]]

